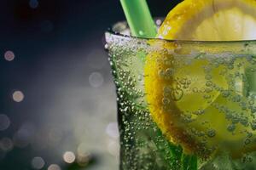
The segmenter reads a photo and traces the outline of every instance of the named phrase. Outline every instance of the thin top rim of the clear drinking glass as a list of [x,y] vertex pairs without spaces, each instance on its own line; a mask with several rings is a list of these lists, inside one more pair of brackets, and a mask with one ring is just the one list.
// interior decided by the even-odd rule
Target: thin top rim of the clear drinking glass
[[[161,20],[163,18],[155,18],[155,20]],[[117,25],[123,24],[123,26],[125,26],[125,29],[129,30],[129,26],[127,24],[127,22],[125,20],[123,21],[118,21],[116,23],[114,23],[112,26],[108,26],[108,30],[105,31],[105,34],[108,33],[112,36],[116,36],[116,37],[120,37],[120,38],[131,38],[131,39],[137,39],[137,40],[144,40],[144,41],[149,41],[149,40],[155,40],[155,41],[164,41],[164,42],[180,42],[180,43],[256,43],[256,39],[252,39],[252,40],[225,40],[225,41],[205,41],[205,40],[177,40],[177,39],[164,39],[164,38],[158,38],[158,37],[135,37],[132,35],[125,35],[123,33],[121,33],[121,31],[114,31],[114,27]]]

